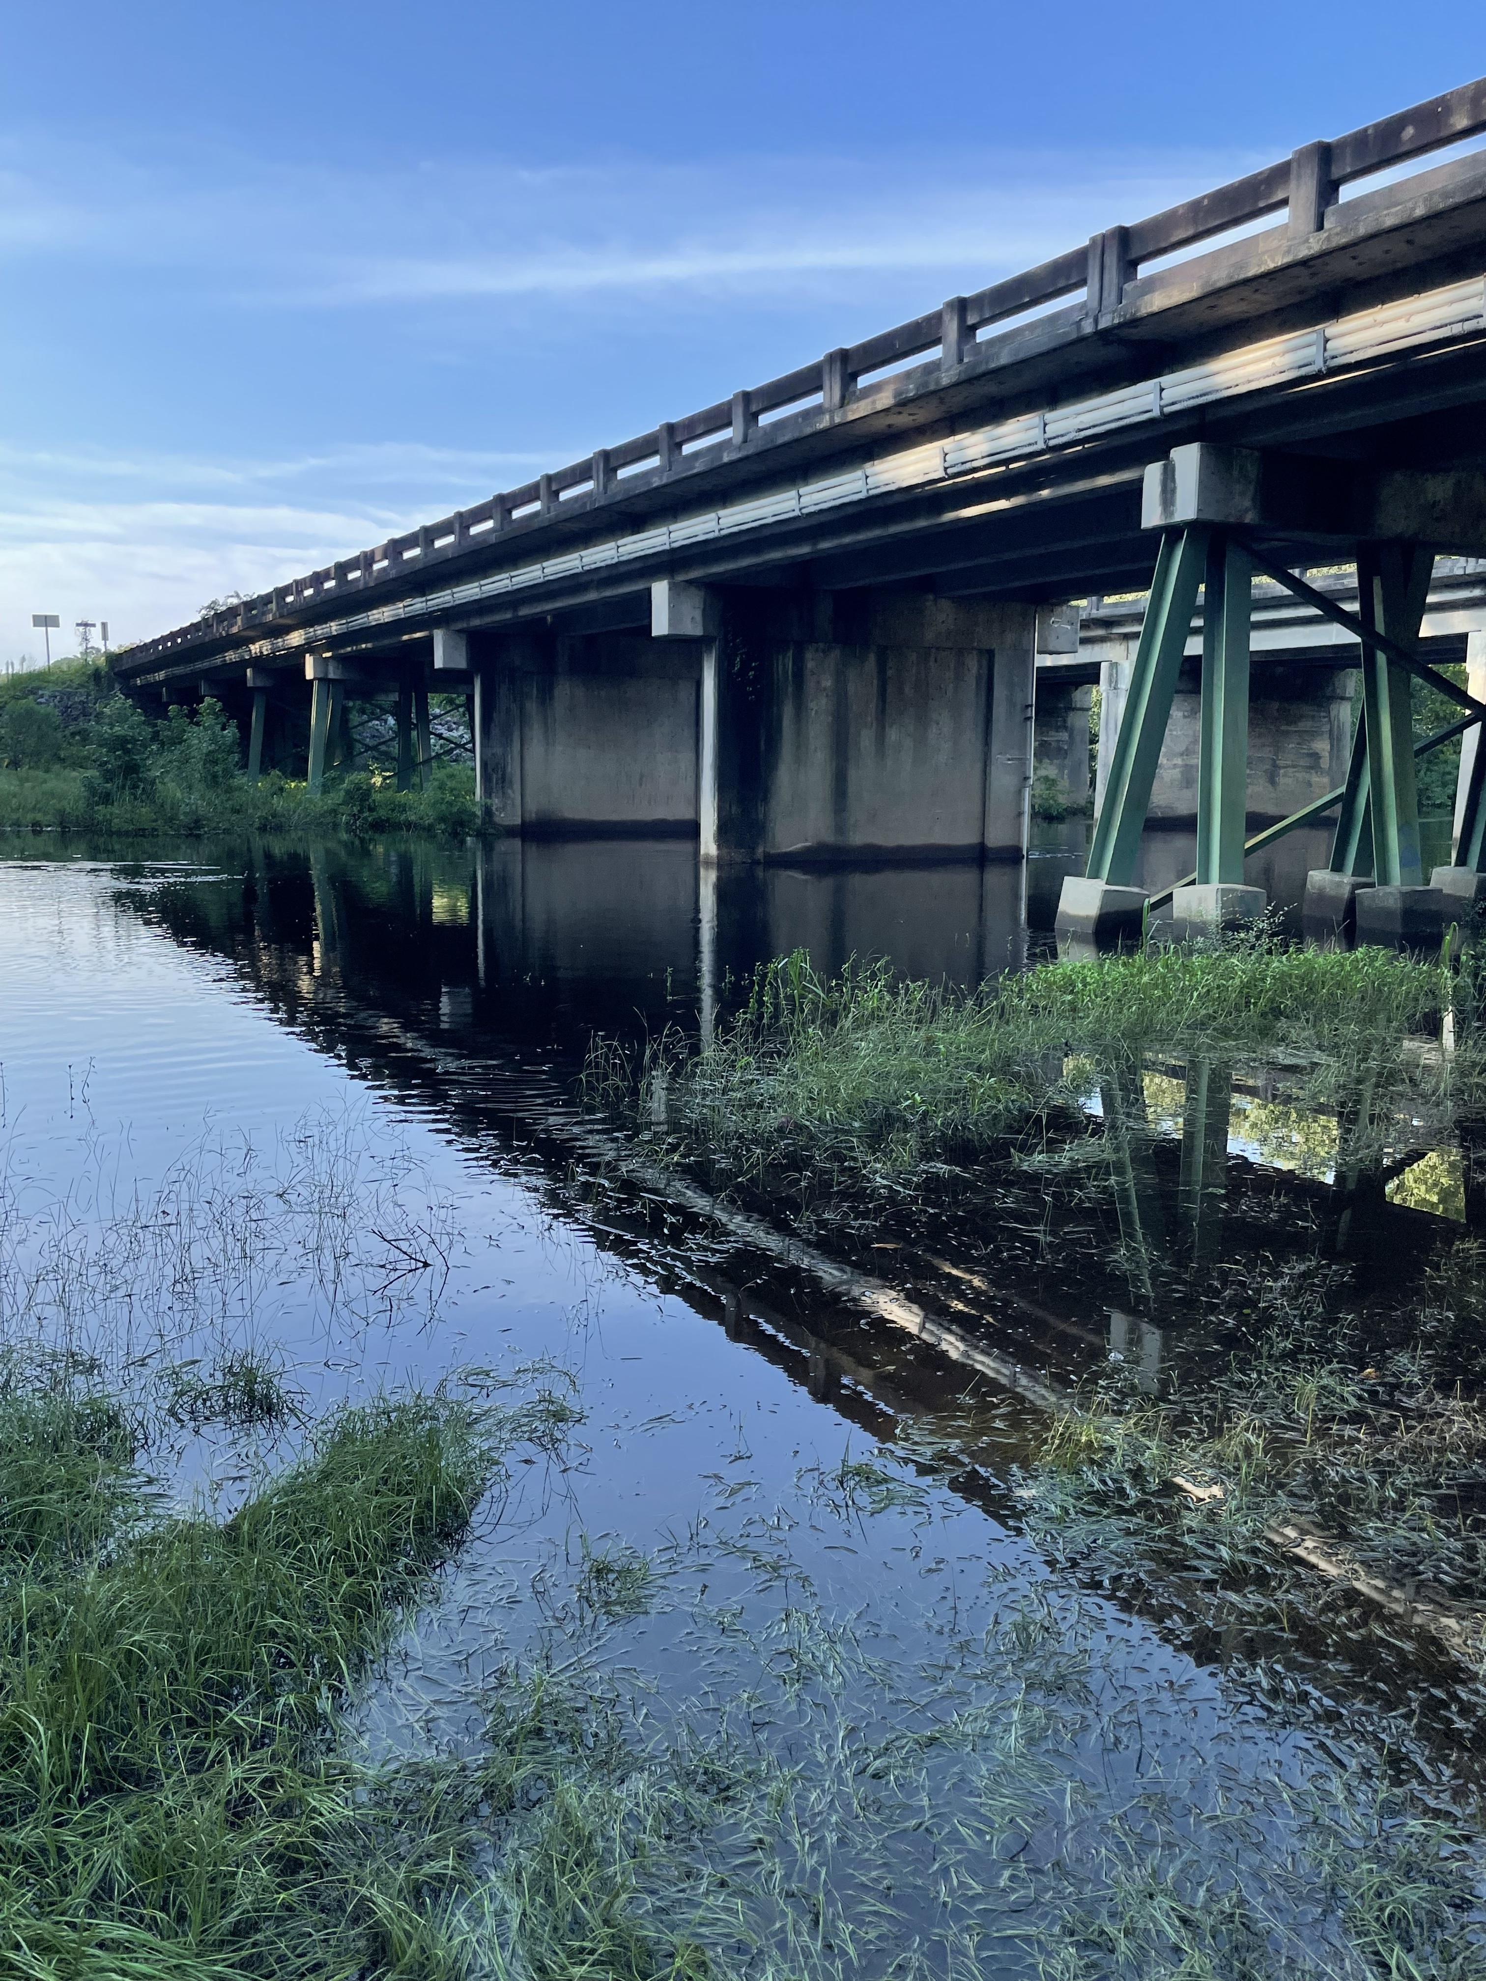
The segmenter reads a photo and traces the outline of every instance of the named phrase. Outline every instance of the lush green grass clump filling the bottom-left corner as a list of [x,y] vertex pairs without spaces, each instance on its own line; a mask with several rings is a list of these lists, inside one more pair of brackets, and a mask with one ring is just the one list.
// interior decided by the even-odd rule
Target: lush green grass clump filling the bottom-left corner
[[521,1440],[571,1408],[345,1408],[228,1519],[101,1397],[0,1397],[0,1975],[468,1973],[481,1830],[343,1712]]

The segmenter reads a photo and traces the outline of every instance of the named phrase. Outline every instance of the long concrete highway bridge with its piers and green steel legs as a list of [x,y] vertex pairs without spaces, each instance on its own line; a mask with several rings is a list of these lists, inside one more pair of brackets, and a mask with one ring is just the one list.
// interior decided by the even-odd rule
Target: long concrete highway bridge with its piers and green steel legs
[[[1149,592],[1088,874],[1064,886],[1062,925],[1104,939],[1145,911],[1133,850],[1199,596],[1199,872],[1177,907],[1252,911],[1258,574],[1355,642],[1363,676],[1318,903],[1403,927],[1438,907],[1411,678],[1458,703],[1450,735],[1486,713],[1417,650],[1434,555],[1486,553],[1482,133],[1486,79],[1302,145],[141,642],[117,676],[218,695],[254,775],[279,761],[315,786],[347,699],[394,701],[406,784],[428,691],[466,693],[479,804],[507,832],[693,834],[703,866],[1016,860],[1038,646],[1066,644],[1070,600]],[[1357,569],[1353,606],[1296,576],[1326,563]],[[1466,814],[1470,891],[1486,792]]]

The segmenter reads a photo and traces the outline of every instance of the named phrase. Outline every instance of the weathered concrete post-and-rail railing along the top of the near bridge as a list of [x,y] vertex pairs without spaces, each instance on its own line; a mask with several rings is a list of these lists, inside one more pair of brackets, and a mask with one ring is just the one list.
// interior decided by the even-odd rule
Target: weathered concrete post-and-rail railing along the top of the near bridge
[[[997,366],[1110,323],[1159,311],[1201,281],[1232,287],[1272,271],[1288,248],[1363,222],[1369,202],[1397,204],[1397,186],[1361,190],[1377,174],[1486,131],[1486,79],[1452,89],[1339,139],[1302,145],[1290,158],[1153,214],[1114,226],[1088,246],[1054,256],[1020,275],[941,309],[826,353],[759,386],[733,392],[680,420],[662,422],[618,446],[543,473],[515,489],[458,509],[414,531],[388,537],[262,592],[206,620],[141,642],[135,662],[168,662],[224,646],[256,628],[307,610],[343,606],[392,592],[438,565],[466,557],[507,535],[575,519],[612,501],[682,483],[707,468],[763,458],[842,420],[882,412],[925,388],[971,382]],[[1472,160],[1474,162],[1474,160]],[[1411,190],[1427,192],[1458,164],[1419,172]],[[1282,216],[1254,232],[1254,224]],[[1230,238],[1224,242],[1224,238]],[[917,361],[917,363],[915,363]]]

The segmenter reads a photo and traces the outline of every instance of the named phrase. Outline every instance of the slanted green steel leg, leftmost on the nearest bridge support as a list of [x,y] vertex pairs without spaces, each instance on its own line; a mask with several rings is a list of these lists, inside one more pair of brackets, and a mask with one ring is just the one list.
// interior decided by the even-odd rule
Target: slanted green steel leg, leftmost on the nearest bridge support
[[1193,624],[1197,586],[1203,582],[1207,541],[1205,525],[1167,531],[1155,561],[1145,624],[1129,670],[1125,715],[1086,868],[1090,880],[1115,887],[1129,887],[1135,880],[1135,856]]

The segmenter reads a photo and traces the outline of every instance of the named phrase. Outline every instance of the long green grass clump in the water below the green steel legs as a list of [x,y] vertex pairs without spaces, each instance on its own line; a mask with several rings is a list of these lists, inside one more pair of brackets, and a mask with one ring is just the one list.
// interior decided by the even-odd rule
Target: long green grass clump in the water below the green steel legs
[[721,1175],[810,1189],[870,1183],[987,1151],[1058,1117],[1104,1070],[1147,1050],[1284,1050],[1353,1078],[1379,1048],[1436,1024],[1446,969],[1381,949],[1236,941],[1092,963],[1048,963],[973,990],[900,981],[888,965],[820,979],[802,951],[755,975],[743,1010],[686,1058],[600,1044],[600,1101],[664,1103],[678,1153]]

